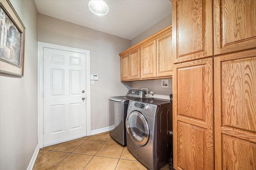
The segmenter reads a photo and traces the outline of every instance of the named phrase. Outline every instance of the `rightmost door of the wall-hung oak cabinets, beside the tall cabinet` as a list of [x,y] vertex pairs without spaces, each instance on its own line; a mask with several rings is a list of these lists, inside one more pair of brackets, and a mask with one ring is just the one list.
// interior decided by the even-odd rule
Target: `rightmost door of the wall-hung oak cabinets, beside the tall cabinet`
[[172,30],[156,39],[156,76],[172,76]]

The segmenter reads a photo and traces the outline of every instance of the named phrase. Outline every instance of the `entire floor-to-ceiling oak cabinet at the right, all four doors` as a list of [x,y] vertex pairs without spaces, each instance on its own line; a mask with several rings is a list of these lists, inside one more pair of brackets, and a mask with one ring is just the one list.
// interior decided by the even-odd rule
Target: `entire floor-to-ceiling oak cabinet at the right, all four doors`
[[256,1],[171,1],[174,168],[255,170]]

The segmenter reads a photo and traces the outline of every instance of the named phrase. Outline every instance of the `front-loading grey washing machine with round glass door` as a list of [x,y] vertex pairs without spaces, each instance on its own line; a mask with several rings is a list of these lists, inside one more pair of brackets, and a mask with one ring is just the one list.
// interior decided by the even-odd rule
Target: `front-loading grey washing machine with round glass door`
[[156,98],[130,100],[126,144],[132,155],[150,170],[169,164],[173,157],[172,102]]

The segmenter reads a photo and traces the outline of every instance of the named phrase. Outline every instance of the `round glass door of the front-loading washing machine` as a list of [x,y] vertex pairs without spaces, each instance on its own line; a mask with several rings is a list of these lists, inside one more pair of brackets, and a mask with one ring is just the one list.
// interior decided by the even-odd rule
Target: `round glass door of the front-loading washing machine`
[[133,143],[137,146],[146,145],[150,134],[146,117],[138,111],[132,111],[132,113],[126,117],[125,123],[126,130]]

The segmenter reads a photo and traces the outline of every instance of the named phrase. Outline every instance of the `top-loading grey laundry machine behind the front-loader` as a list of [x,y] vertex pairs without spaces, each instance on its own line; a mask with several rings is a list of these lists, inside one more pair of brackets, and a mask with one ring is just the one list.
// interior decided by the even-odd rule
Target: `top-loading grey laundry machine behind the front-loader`
[[146,98],[141,90],[129,90],[126,96],[109,98],[109,125],[113,128],[109,133],[122,146],[126,146],[125,119],[129,100],[140,98]]

